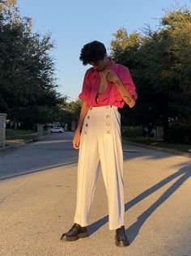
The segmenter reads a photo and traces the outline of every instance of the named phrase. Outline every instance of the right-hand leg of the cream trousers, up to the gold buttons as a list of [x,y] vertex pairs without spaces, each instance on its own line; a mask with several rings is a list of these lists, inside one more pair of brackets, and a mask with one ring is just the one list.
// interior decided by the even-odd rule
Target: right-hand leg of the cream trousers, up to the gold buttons
[[98,142],[101,169],[108,195],[109,229],[124,225],[125,202],[123,181],[123,152],[121,147],[120,115],[111,111],[106,130]]

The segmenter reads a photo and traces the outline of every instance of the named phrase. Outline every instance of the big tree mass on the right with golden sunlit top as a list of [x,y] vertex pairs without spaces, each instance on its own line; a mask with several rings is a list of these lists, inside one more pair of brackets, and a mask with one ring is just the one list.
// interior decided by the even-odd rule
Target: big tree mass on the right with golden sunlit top
[[[166,11],[160,27],[149,26],[143,35],[120,29],[111,42],[112,57],[129,66],[138,88],[130,121],[163,125],[165,134],[173,122],[188,122],[191,109],[191,13],[186,8]],[[132,40],[132,37],[134,40]],[[129,118],[129,117],[128,117]],[[167,136],[165,136],[167,139]]]

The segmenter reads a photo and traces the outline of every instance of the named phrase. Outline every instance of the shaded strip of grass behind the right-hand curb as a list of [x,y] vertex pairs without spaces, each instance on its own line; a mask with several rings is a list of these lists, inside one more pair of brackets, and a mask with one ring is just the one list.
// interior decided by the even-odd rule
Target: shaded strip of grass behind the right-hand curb
[[164,143],[162,140],[147,139],[144,137],[122,137],[122,139],[126,141],[132,141],[134,143],[142,143],[154,147],[165,147],[184,152],[188,152],[189,149],[191,150],[191,145],[189,144]]

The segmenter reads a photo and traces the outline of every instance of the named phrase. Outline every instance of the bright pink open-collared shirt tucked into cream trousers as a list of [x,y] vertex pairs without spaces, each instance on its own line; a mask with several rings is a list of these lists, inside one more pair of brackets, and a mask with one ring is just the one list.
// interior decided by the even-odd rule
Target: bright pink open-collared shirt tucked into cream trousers
[[[124,84],[129,93],[134,96],[134,99],[137,100],[138,96],[135,91],[134,82],[129,73],[129,69],[126,66],[117,64],[112,61],[112,70],[117,73],[117,76]],[[87,70],[84,79],[83,79],[83,90],[79,94],[79,98],[83,101],[86,101],[87,106],[90,107],[99,107],[106,105],[114,105],[118,108],[124,106],[124,100],[121,97],[120,92],[117,90],[115,83],[108,81],[108,87],[102,92],[99,96],[99,99],[96,100],[97,93],[99,92],[100,87],[100,75],[99,72],[91,67]]]

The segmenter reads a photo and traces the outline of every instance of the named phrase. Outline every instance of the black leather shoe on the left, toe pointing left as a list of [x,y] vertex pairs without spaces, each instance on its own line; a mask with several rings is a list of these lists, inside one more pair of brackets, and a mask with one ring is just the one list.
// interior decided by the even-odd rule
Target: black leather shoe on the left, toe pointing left
[[89,237],[87,227],[81,227],[79,224],[75,224],[66,233],[62,234],[62,241],[76,241],[79,238]]

